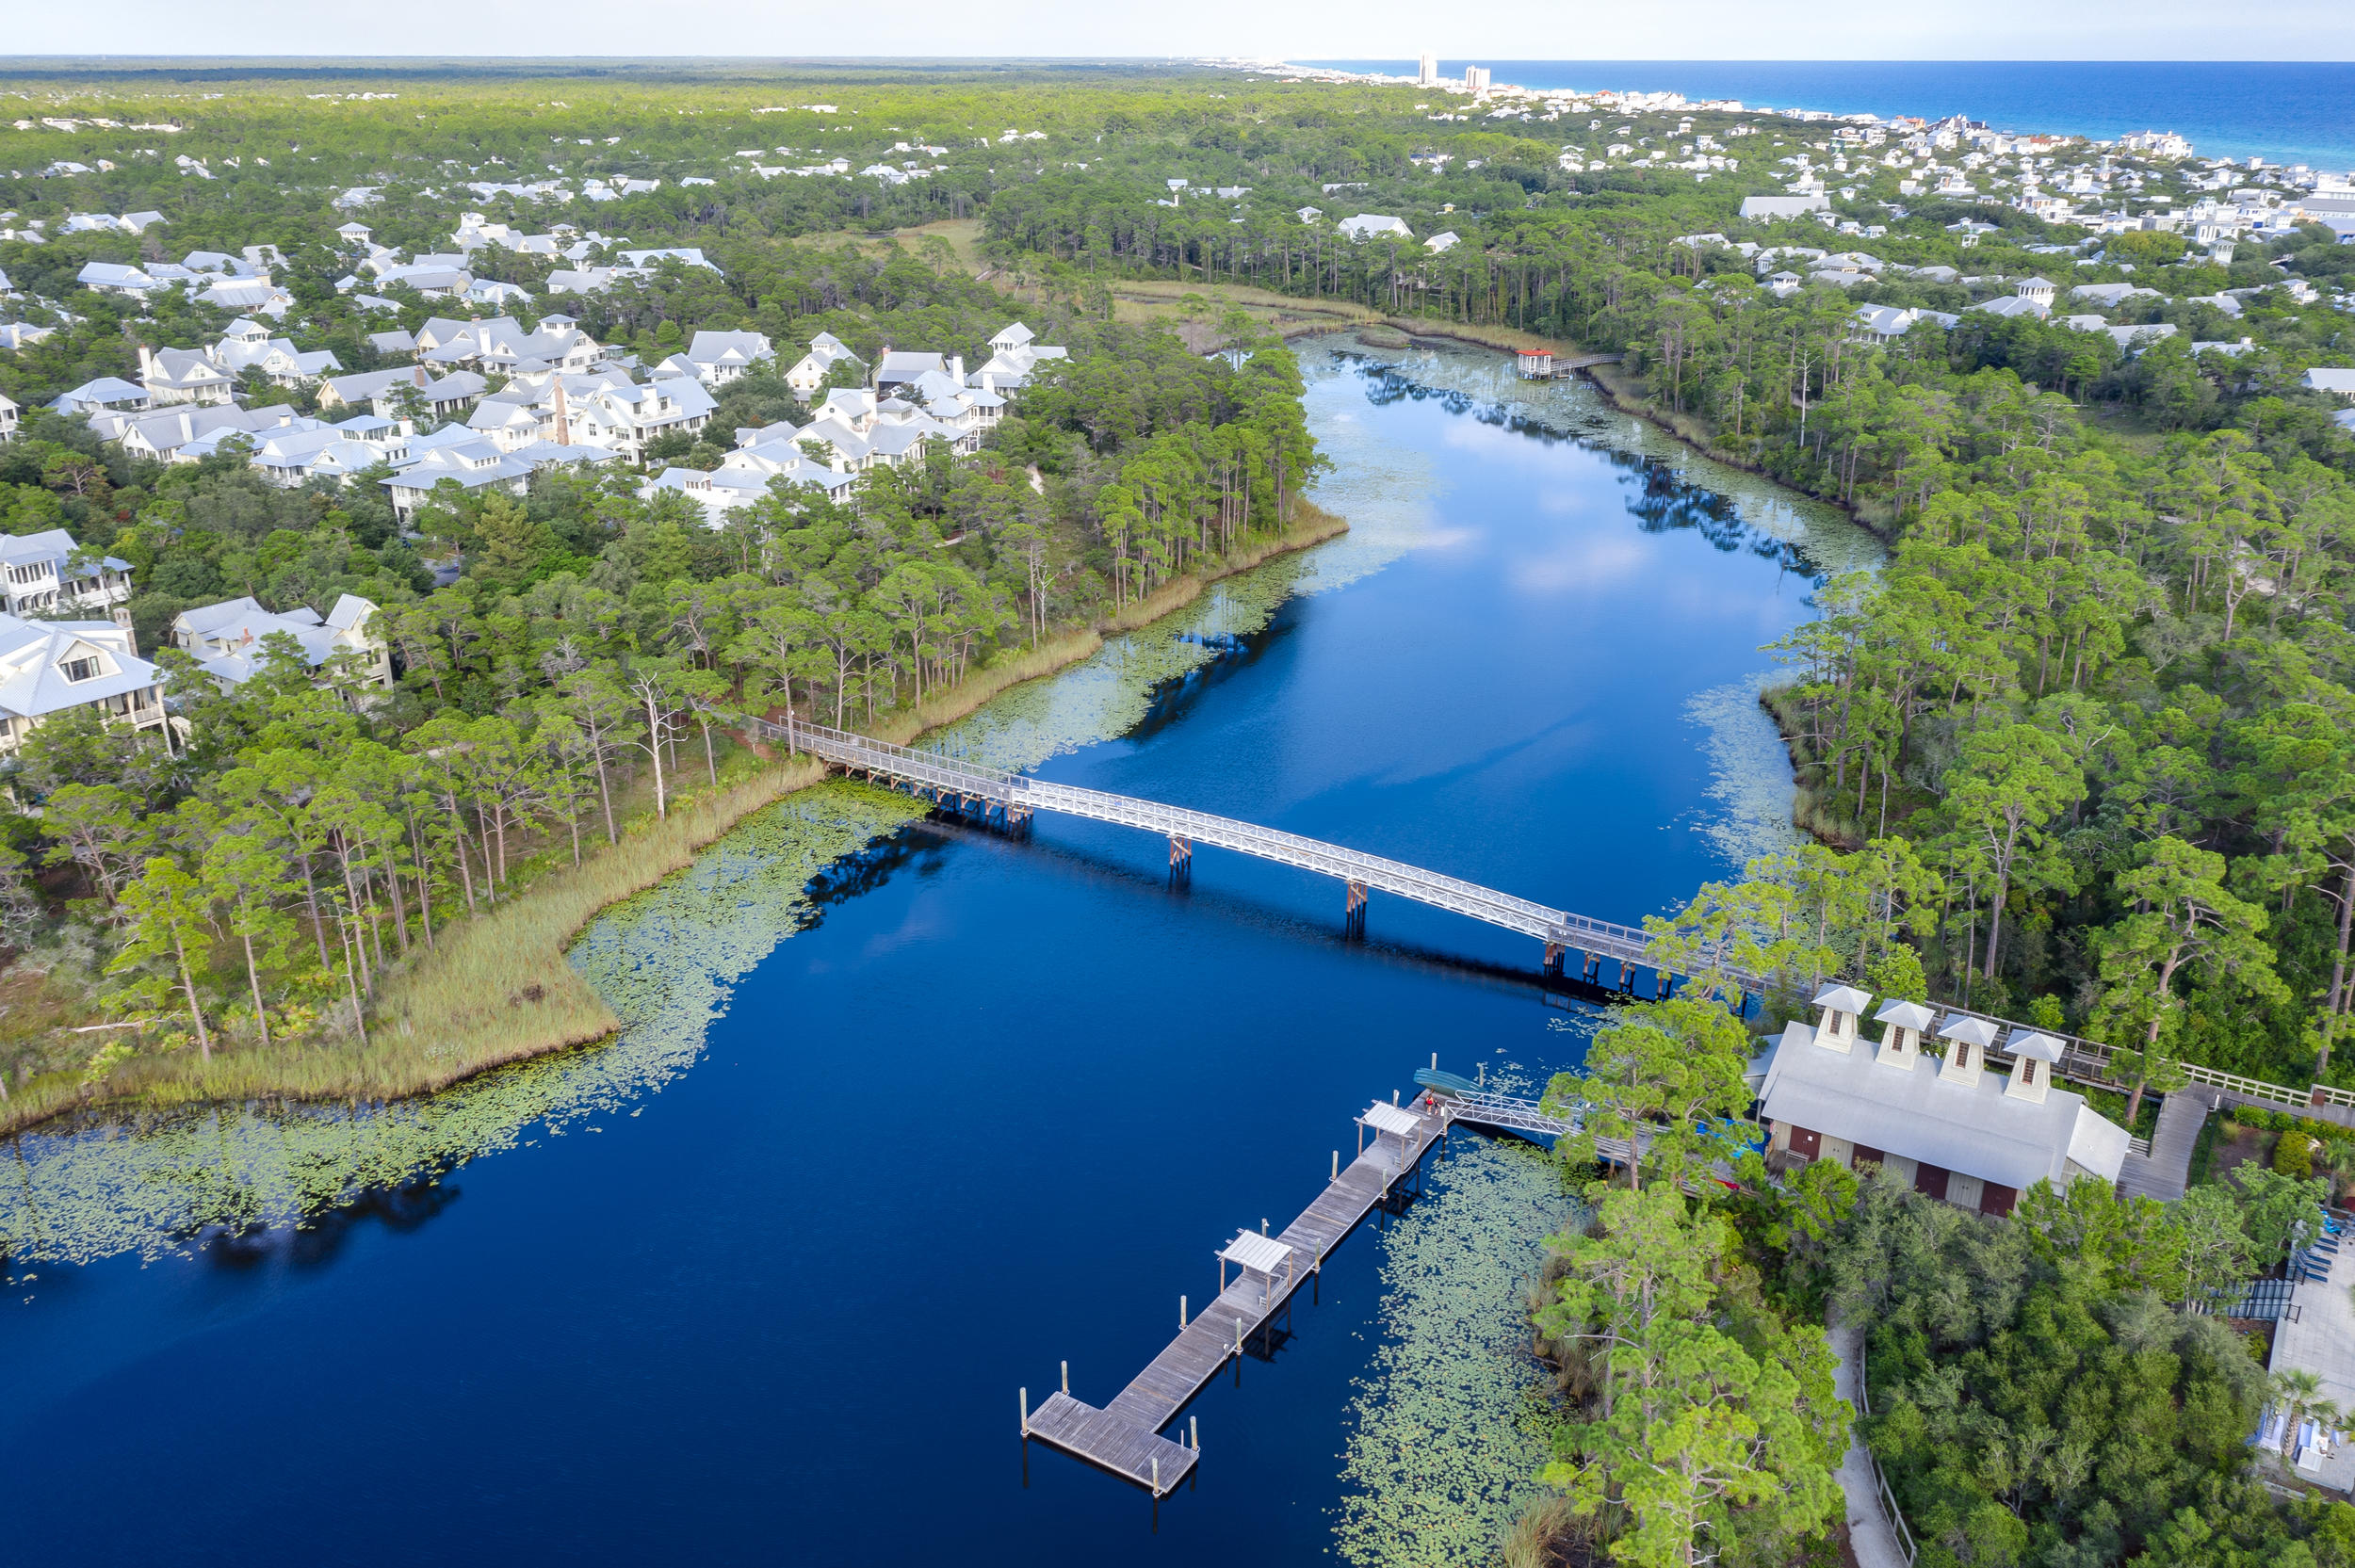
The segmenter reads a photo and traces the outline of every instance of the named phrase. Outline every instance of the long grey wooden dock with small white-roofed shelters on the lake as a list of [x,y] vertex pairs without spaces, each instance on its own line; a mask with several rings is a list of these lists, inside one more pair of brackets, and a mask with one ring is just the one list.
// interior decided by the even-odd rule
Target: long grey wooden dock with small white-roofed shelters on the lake
[[1161,1436],[1161,1429],[1178,1420],[1178,1413],[1201,1394],[1227,1361],[1243,1354],[1243,1344],[1283,1311],[1293,1293],[1316,1276],[1326,1255],[1392,1194],[1401,1177],[1422,1163],[1422,1156],[1448,1130],[1446,1099],[1437,1109],[1425,1109],[1422,1099],[1399,1109],[1413,1116],[1415,1130],[1406,1137],[1375,1135],[1276,1236],[1293,1248],[1295,1262],[1288,1276],[1239,1276],[1218,1300],[1194,1314],[1194,1321],[1102,1410],[1062,1391],[1050,1394],[1031,1410],[1024,1394],[1022,1436],[1135,1481],[1156,1497],[1185,1481],[1201,1455],[1187,1443]]

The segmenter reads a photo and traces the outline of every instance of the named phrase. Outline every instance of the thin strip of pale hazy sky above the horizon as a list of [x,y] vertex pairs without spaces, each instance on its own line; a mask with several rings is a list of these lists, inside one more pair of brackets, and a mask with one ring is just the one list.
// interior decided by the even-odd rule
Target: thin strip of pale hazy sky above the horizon
[[5,54],[1276,54],[2355,59],[2355,5],[2268,0],[0,0]]

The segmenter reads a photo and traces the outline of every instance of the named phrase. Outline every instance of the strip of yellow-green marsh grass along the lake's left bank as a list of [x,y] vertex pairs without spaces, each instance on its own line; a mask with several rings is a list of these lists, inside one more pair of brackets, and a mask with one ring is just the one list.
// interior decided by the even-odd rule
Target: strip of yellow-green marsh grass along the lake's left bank
[[[937,699],[885,713],[869,732],[911,744],[1017,685],[1072,669],[1100,652],[1107,636],[1126,636],[1185,610],[1215,582],[1347,530],[1345,518],[1300,497],[1293,527],[1274,539],[1229,556],[1213,572],[1166,582],[1142,600],[1114,607],[1034,650],[1001,657]],[[210,1064],[134,1057],[108,1078],[113,1092],[59,1085],[47,1097],[0,1102],[0,1135],[26,1132],[68,1114],[120,1121],[139,1111],[252,1099],[414,1099],[499,1067],[610,1038],[622,1019],[568,961],[582,930],[605,909],[690,866],[754,812],[827,777],[822,763],[777,763],[765,746],[749,749],[761,758],[754,777],[688,793],[664,819],[631,817],[619,843],[601,848],[577,869],[551,871],[497,909],[450,925],[436,951],[389,977],[372,1008],[367,1045],[332,1052],[301,1048],[271,1057],[221,1050]],[[419,1043],[419,1036],[433,1043]],[[320,1059],[330,1055],[334,1059]]]

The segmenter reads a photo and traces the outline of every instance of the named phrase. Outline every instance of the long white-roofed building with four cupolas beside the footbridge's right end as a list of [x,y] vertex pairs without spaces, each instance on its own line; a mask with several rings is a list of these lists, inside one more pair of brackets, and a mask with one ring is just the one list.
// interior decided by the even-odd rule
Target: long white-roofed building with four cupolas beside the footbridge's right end
[[[1985,1215],[2009,1215],[2035,1182],[2117,1182],[2127,1130],[2054,1083],[2061,1043],[2011,1026],[2011,1071],[1990,1071],[2004,1024],[1891,1001],[1875,1012],[1877,1043],[1860,1038],[1872,998],[1853,986],[1816,996],[1818,1022],[1776,1041],[1762,1118],[1769,1161],[1879,1165],[1915,1191]],[[1945,1057],[1924,1052],[1943,1043]]]

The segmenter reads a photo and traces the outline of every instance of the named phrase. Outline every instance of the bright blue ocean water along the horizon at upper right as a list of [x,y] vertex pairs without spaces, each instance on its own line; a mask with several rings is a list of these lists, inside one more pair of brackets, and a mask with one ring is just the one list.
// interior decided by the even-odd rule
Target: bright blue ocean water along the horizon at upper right
[[[1404,59],[1302,64],[1415,71]],[[2006,132],[2096,139],[2171,129],[2204,158],[2355,167],[2350,61],[1448,59],[1439,71],[1462,75],[1467,64],[1514,87],[1681,92],[1844,115],[1969,115]]]

